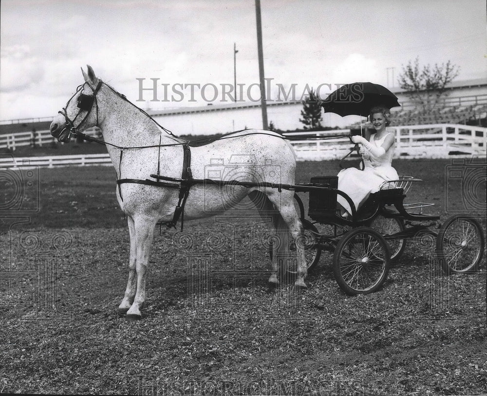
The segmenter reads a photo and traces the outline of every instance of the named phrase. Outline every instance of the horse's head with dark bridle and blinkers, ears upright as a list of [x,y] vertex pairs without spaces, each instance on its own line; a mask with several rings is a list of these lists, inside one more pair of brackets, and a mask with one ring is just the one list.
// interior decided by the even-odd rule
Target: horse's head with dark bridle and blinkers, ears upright
[[96,77],[91,66],[87,65],[88,73],[83,69],[85,82],[66,103],[51,123],[51,135],[58,142],[69,142],[71,135],[82,132],[87,128],[98,125],[98,101],[96,94],[102,86],[102,81]]

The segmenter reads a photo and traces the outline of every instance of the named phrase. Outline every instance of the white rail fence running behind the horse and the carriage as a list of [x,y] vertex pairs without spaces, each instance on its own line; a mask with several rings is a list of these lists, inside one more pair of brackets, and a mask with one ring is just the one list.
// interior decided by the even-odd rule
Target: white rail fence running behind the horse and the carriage
[[[396,133],[396,158],[450,158],[452,157],[450,152],[456,154],[454,156],[486,156],[487,128],[454,124],[433,124],[390,127],[390,129]],[[302,132],[285,133],[287,136],[297,136],[300,134]],[[299,161],[340,159],[354,147],[350,143],[350,139],[346,136],[350,134],[349,129],[309,132],[306,134],[324,137],[342,134],[344,137],[330,140],[291,141],[290,143],[296,151]],[[108,153],[54,155],[46,157],[0,156],[0,169],[111,164],[112,162]]]

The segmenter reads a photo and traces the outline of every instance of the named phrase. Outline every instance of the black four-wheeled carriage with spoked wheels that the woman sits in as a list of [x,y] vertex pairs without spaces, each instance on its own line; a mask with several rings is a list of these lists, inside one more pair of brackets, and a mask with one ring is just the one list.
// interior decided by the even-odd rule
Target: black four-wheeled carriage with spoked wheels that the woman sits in
[[[309,192],[308,216],[298,195],[295,198],[305,235],[308,270],[318,265],[323,250],[333,253],[333,273],[347,294],[377,291],[387,279],[391,262],[397,260],[408,240],[418,241],[425,235],[436,239],[438,262],[446,274],[476,271],[484,253],[482,226],[470,215],[457,214],[440,224],[440,216],[424,214],[423,208],[434,204],[404,200],[413,183],[411,176],[384,182],[356,211],[352,200],[337,189],[337,176],[312,177],[309,184],[299,184],[296,191]],[[317,189],[318,188],[318,189]],[[350,218],[337,211],[337,195],[352,208]],[[318,232],[325,226],[326,233]]]

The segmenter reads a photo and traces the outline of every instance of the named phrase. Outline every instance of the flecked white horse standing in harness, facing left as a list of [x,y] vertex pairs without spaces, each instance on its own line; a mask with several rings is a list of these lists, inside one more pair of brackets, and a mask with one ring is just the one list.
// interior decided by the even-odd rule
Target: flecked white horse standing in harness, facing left
[[[268,186],[231,186],[225,187],[223,194],[221,186],[196,184],[190,187],[187,197],[183,198],[183,201],[187,198],[184,206],[178,189],[164,187],[168,184],[167,180],[160,184],[163,187],[155,186],[156,180],[150,175],[160,172],[163,176],[181,178],[185,142],[160,128],[147,113],[98,79],[90,66],[87,73],[83,70],[82,73],[85,83],[78,87],[66,108],[54,118],[51,134],[58,141],[68,142],[72,134],[98,126],[117,179],[131,179],[116,188],[118,203],[128,217],[130,234],[129,280],[119,306],[119,312],[126,314],[127,320],[141,318],[140,309],[146,300],[146,271],[156,223],[173,220],[178,203],[184,207],[185,219],[198,219],[221,213],[235,206],[245,196],[254,202],[260,201],[259,210],[267,215],[271,213],[273,225],[280,237],[280,243],[273,245],[269,283],[279,283],[278,257],[282,258],[288,252],[290,242],[294,242],[298,261],[295,287],[306,287],[304,278],[307,269],[299,238],[301,224],[294,207],[293,191],[279,191]],[[240,165],[236,173],[242,182],[295,183],[294,151],[287,141],[273,132],[236,132],[225,139],[201,147],[191,147],[190,151],[190,168],[195,179],[236,179],[235,172],[233,176],[232,172],[225,176],[224,170],[219,177],[218,174],[206,173],[206,170],[218,166],[221,170],[222,164],[231,164],[232,158],[234,160],[237,156]],[[144,183],[147,179],[150,182]],[[172,186],[179,184],[173,183]]]

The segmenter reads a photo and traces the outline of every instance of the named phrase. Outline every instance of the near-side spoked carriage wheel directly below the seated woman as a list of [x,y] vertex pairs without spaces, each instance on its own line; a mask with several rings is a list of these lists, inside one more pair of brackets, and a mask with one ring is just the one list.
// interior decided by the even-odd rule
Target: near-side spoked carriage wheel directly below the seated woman
[[333,273],[338,285],[350,295],[380,289],[389,272],[387,242],[373,228],[348,231],[338,242],[333,256]]

